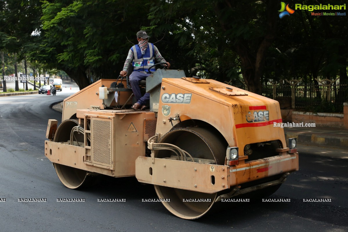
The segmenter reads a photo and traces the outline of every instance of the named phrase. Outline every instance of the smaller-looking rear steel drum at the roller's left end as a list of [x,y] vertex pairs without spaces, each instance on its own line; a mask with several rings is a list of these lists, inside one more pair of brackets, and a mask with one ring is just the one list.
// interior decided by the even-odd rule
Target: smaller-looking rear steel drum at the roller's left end
[[[82,133],[83,128],[79,128],[80,133],[77,133],[75,129],[76,132],[73,135],[71,134],[71,131],[74,129],[74,127],[78,125],[78,122],[75,120],[69,119],[63,121],[57,128],[54,142],[63,142],[67,144],[71,143],[77,146],[84,144],[84,134]],[[73,138],[73,142],[71,142],[71,137]],[[58,163],[53,163],[53,166],[56,169],[56,173],[60,181],[69,189],[77,189],[78,187],[89,183],[90,176],[88,175],[88,171],[61,165]]]

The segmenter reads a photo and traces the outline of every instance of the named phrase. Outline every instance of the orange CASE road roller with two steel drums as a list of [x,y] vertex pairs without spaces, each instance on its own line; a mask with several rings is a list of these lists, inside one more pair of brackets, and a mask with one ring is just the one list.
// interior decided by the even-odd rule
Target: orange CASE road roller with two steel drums
[[196,219],[217,201],[270,195],[298,170],[295,139],[287,145],[274,127],[277,101],[182,70],[157,70],[146,91],[143,111],[125,109],[133,94],[122,79],[64,99],[62,123],[48,122],[45,156],[66,187],[94,174],[135,176],[171,213]]

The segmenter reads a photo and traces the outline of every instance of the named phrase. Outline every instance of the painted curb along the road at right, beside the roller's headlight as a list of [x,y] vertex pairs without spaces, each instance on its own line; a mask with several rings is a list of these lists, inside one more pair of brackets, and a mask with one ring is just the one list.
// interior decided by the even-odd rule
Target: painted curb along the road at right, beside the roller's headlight
[[285,131],[285,138],[296,138],[298,143],[309,143],[316,145],[328,145],[337,147],[348,148],[348,137],[347,136],[328,136],[318,134],[307,134],[307,133],[296,133],[293,131]]

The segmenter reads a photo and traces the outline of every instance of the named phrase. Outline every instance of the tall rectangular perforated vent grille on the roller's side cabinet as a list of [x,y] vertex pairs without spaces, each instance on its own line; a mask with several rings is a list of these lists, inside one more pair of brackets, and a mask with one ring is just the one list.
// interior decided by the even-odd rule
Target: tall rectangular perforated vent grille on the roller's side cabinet
[[111,167],[111,119],[92,118],[92,163]]

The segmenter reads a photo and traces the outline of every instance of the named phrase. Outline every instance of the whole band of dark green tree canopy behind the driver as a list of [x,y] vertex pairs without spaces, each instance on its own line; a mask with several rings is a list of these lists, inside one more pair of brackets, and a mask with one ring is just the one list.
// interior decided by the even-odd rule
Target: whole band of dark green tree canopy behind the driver
[[259,94],[269,81],[347,81],[347,16],[295,10],[280,18],[274,0],[13,0],[0,5],[0,50],[63,70],[80,88],[117,78],[137,43],[136,32],[143,29],[172,68],[188,76],[242,80]]

